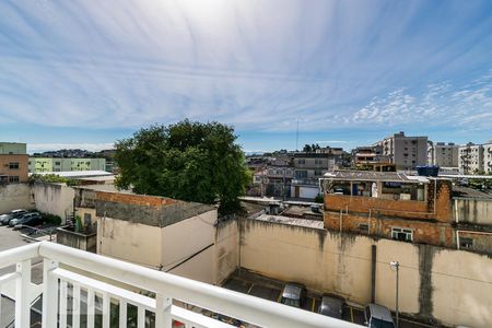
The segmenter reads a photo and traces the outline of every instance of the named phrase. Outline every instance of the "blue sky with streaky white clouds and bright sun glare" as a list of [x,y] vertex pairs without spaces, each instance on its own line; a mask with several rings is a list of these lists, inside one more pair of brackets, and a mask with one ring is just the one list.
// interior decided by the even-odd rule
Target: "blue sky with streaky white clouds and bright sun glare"
[[246,151],[492,139],[491,1],[0,2],[0,140],[96,150],[184,118]]

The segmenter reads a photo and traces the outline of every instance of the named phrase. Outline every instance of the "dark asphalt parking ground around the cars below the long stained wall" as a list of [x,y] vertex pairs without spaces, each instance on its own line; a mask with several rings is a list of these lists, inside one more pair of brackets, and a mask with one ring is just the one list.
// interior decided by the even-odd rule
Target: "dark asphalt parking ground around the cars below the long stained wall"
[[[251,273],[245,269],[234,272],[222,285],[225,289],[236,292],[261,297],[272,302],[280,302],[281,292],[285,282],[270,279],[260,274]],[[312,291],[307,292],[303,308],[311,312],[317,312],[321,300],[320,294]],[[364,325],[364,312],[362,306],[347,305],[343,308],[342,318],[347,321]],[[417,323],[412,318],[400,317],[400,328],[426,328],[436,327],[422,323]]]

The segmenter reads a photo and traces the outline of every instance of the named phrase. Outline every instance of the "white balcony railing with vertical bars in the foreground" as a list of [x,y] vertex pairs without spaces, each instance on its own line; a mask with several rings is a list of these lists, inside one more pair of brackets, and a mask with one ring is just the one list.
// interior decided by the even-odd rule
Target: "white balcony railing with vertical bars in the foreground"
[[[36,285],[31,282],[32,262],[38,262],[39,258],[43,283]],[[15,272],[0,276],[0,293],[14,286],[16,328],[30,327],[32,304],[39,295],[43,295],[44,328],[56,328],[57,325],[79,328],[82,319],[86,321],[84,326],[94,328],[96,317],[102,320],[103,328],[126,328],[130,317],[128,305],[137,308],[138,328],[150,327],[145,319],[149,315],[155,323],[152,326],[159,328],[232,327],[186,309],[190,305],[261,327],[359,327],[49,242],[1,251],[0,269],[12,265],[16,266]]]

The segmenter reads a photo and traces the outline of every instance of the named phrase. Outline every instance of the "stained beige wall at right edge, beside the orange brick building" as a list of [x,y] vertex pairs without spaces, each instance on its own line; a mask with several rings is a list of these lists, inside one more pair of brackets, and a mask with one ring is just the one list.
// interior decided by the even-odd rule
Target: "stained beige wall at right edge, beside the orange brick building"
[[492,199],[456,198],[453,207],[454,221],[492,225]]

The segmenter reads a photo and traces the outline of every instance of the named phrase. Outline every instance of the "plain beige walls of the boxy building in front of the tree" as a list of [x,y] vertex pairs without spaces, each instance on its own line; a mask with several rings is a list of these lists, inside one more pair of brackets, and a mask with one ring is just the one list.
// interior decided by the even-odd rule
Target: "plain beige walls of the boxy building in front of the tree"
[[97,254],[215,283],[215,220],[216,210],[164,227],[98,216]]

